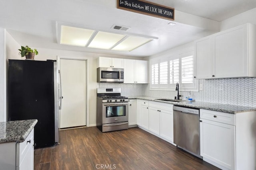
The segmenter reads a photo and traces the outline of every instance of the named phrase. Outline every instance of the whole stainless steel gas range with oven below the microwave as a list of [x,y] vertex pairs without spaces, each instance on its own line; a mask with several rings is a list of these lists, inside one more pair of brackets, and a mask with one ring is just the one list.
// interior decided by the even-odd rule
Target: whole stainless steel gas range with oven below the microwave
[[102,132],[128,129],[128,98],[120,88],[97,88],[96,121]]

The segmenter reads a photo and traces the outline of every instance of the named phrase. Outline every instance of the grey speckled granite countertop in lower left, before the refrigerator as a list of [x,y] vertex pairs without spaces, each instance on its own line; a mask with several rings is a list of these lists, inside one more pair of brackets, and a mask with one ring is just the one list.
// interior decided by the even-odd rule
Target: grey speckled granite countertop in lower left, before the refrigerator
[[37,119],[0,122],[0,143],[24,142]]

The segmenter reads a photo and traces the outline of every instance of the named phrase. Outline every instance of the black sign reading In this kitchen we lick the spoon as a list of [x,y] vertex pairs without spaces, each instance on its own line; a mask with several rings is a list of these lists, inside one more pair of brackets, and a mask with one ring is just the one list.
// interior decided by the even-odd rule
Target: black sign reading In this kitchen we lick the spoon
[[117,8],[167,20],[174,20],[174,8],[145,0],[117,0]]

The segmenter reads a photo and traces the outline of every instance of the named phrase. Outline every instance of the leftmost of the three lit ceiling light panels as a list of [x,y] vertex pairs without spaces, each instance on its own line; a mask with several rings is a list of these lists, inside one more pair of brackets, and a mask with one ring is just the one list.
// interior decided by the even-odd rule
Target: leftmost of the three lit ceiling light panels
[[94,30],[61,25],[60,44],[86,46]]

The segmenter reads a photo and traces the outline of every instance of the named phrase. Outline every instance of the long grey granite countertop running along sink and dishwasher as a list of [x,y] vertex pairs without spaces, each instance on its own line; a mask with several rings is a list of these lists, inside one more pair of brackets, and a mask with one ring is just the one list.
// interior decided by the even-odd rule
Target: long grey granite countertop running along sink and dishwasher
[[196,102],[196,101],[195,102],[190,102],[190,101],[166,102],[162,100],[156,100],[160,98],[154,98],[150,96],[128,96],[128,99],[149,100],[154,102],[173,104],[176,106],[194,107],[199,109],[220,111],[220,112],[231,113],[231,114],[242,113],[246,111],[256,111],[256,107],[237,106],[237,105],[230,105],[230,104],[217,104],[217,103],[208,103],[208,102]]

